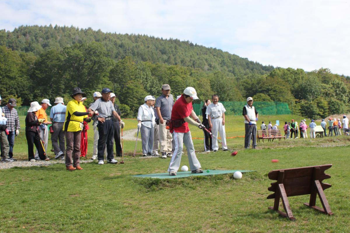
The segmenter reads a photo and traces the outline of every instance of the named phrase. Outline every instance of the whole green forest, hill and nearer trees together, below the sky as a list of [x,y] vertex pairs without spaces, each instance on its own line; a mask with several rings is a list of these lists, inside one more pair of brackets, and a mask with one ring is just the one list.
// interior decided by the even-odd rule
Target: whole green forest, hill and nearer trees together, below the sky
[[[117,46],[116,41],[111,42],[113,38],[129,44]],[[151,45],[158,48],[145,49]],[[182,58],[189,57],[188,63],[182,58],[176,64],[166,61],[181,52]],[[211,55],[204,56],[206,52]],[[214,59],[211,63],[209,57]],[[205,63],[198,65],[201,59]],[[294,114],[310,118],[347,112],[350,103],[350,78],[332,74],[327,68],[311,72],[273,68],[176,39],[58,26],[1,31],[0,83],[3,99],[15,97],[24,105],[57,96],[68,101],[76,86],[87,93],[89,103],[93,92],[109,87],[117,95],[123,117],[135,116],[144,97],[159,96],[164,83],[170,85],[174,97],[193,86],[201,100],[214,93],[221,101],[244,101],[253,96],[256,101],[286,102]]]

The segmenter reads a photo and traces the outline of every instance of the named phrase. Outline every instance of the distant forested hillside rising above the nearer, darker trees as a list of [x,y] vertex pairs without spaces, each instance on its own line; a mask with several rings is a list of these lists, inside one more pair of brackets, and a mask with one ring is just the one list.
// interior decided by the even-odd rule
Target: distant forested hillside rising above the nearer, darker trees
[[12,50],[33,52],[38,56],[50,49],[63,49],[76,43],[102,43],[111,58],[120,60],[130,56],[135,61],[149,61],[204,71],[222,71],[243,77],[247,74],[266,74],[273,66],[240,58],[215,48],[206,48],[189,41],[162,39],[147,35],[104,33],[91,28],[55,26],[20,26],[10,32],[0,32],[0,45]]

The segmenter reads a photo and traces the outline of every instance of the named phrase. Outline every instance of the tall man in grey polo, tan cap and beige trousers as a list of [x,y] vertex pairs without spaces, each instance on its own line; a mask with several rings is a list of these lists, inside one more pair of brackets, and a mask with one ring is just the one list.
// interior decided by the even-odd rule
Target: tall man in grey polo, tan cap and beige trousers
[[154,105],[159,117],[159,141],[163,159],[173,156],[173,136],[169,130],[166,129],[165,125],[166,121],[171,118],[173,105],[174,99],[170,96],[170,86],[169,84],[164,84],[162,86],[162,95],[157,98]]

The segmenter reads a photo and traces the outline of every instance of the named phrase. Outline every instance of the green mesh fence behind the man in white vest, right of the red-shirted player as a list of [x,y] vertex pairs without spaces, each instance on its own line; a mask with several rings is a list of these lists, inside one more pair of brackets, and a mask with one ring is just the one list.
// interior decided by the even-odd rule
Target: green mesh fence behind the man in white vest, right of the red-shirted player
[[[226,115],[242,115],[243,107],[247,102],[240,101],[222,101]],[[203,102],[193,104],[193,109],[197,115],[202,115]],[[261,115],[286,115],[291,114],[287,103],[281,102],[254,102],[253,106]]]

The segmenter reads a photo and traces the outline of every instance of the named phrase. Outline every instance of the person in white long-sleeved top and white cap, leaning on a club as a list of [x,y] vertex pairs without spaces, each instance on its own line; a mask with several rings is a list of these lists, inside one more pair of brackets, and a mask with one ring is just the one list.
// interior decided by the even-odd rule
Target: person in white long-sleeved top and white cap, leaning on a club
[[137,114],[137,128],[141,131],[142,156],[153,154],[155,116],[152,105],[155,98],[152,95],[145,97],[145,103],[139,107]]

